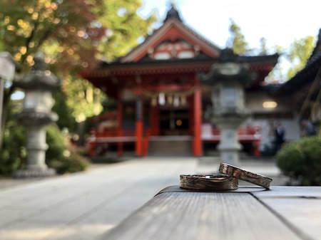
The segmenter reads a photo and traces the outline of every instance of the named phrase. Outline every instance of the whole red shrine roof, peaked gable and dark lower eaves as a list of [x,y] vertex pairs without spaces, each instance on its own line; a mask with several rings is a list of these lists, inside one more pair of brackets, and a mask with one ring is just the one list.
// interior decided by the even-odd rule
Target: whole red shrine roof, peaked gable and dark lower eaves
[[[101,61],[96,69],[81,73],[98,88],[106,88],[115,95],[118,83],[136,81],[136,78],[161,79],[195,78],[198,73],[208,73],[217,63],[222,49],[183,24],[175,6],[169,9],[163,25],[118,61]],[[255,88],[275,67],[278,54],[267,56],[236,56],[235,62],[248,63],[255,72]],[[170,77],[168,77],[170,76]],[[120,85],[121,85],[120,84]]]

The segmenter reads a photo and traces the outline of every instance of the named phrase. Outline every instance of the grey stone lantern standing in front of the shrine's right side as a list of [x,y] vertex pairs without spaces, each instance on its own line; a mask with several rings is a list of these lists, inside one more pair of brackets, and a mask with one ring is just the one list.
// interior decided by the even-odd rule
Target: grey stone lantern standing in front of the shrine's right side
[[210,120],[220,129],[218,150],[223,162],[238,165],[238,127],[250,113],[245,109],[245,87],[253,83],[248,66],[238,63],[231,49],[222,51],[220,61],[215,63],[201,79],[212,86]]

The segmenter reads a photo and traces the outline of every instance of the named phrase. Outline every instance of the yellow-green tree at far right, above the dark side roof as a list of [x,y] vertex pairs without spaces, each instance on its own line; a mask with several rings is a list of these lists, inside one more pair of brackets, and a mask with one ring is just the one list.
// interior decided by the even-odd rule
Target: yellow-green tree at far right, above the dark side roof
[[287,71],[287,79],[292,78],[295,73],[305,67],[307,60],[310,58],[315,46],[315,37],[307,36],[305,38],[296,39],[287,51],[287,59],[291,63],[290,69]]

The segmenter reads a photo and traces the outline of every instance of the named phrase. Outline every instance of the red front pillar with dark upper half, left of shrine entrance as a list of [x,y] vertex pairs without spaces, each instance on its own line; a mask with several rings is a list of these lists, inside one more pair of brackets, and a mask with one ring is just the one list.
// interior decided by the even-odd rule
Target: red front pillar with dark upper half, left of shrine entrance
[[141,93],[136,98],[136,145],[135,152],[137,156],[143,155],[143,99]]

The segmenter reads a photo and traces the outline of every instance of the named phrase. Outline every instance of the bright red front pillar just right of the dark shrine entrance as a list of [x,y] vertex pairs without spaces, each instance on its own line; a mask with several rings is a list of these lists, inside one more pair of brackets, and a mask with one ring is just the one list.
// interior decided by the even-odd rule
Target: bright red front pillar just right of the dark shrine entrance
[[193,154],[194,156],[203,155],[202,139],[200,137],[200,130],[202,125],[202,93],[200,87],[195,89],[194,100],[194,140],[193,140]]

